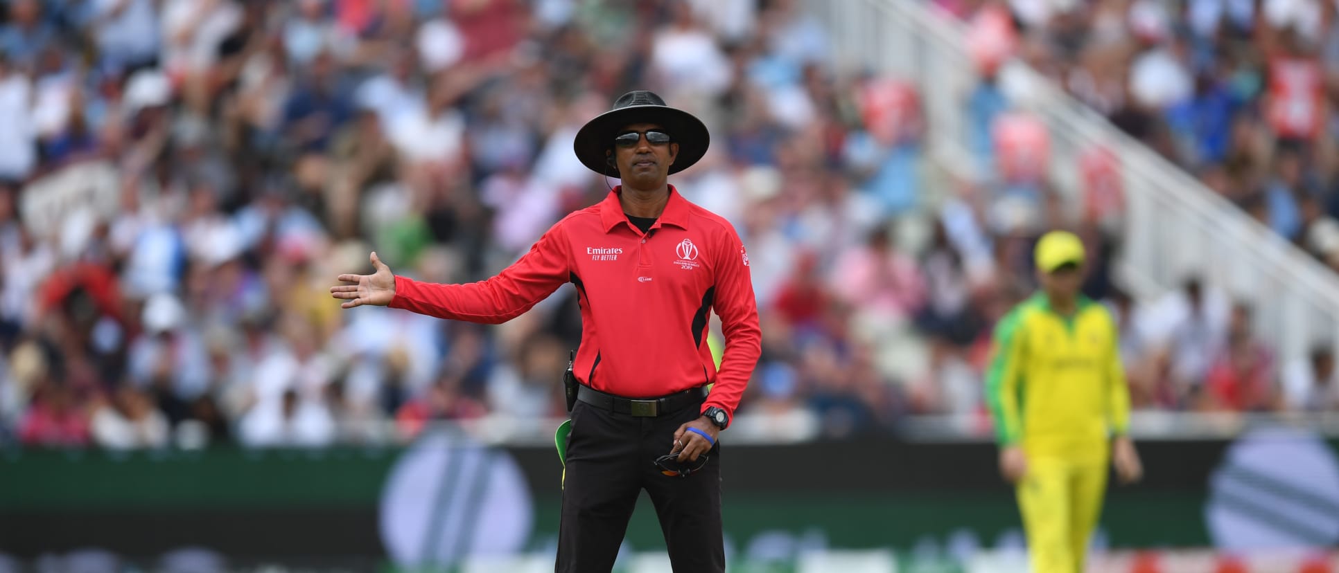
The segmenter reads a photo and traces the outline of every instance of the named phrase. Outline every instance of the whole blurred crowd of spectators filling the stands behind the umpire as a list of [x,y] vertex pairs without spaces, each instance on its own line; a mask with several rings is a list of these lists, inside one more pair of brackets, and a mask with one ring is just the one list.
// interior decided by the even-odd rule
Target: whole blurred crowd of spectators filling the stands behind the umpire
[[[1056,39],[1097,41],[1083,27],[1103,20],[1055,5],[1039,20],[1015,11],[1036,32],[1036,55],[1024,53],[1054,60],[1073,87],[1082,51]],[[1138,21],[1122,1],[1094,5]],[[1224,5],[1233,20],[1209,47],[1241,37],[1228,28],[1239,7]],[[990,329],[1035,287],[1032,242],[1056,226],[1091,243],[1086,291],[1121,319],[1137,407],[1339,409],[1334,358],[1276,365],[1244,302],[1193,278],[1150,305],[1125,297],[1109,268],[1119,231],[1102,218],[1050,208],[1044,224],[1022,224],[996,200],[1014,187],[943,184],[924,160],[915,89],[834,77],[829,32],[793,0],[0,7],[0,442],[319,446],[387,429],[410,438],[442,419],[564,415],[560,374],[580,342],[572,289],[498,327],[341,311],[327,289],[367,272],[371,250],[426,280],[497,272],[617,183],[582,167],[572,140],[632,88],[712,130],[708,155],[671,183],[750,250],[763,327],[740,407],[753,431],[983,417]],[[1127,41],[1189,71],[1202,47],[1174,32],[1180,21]],[[1249,112],[1259,87],[1233,91],[1239,56],[1208,56],[1208,80],[1181,107],[1138,107],[1142,136],[1220,174],[1225,194],[1265,198],[1271,220],[1276,195],[1295,199],[1295,231],[1311,228],[1328,195],[1299,182],[1319,182],[1326,136],[1255,155],[1272,150]],[[1114,98],[1115,118],[1134,108],[1103,83],[1119,77],[1098,77],[1094,98]],[[1201,118],[1217,110],[1201,96],[1231,102],[1231,134]],[[988,92],[964,99],[964,112],[1006,107],[992,106]]]

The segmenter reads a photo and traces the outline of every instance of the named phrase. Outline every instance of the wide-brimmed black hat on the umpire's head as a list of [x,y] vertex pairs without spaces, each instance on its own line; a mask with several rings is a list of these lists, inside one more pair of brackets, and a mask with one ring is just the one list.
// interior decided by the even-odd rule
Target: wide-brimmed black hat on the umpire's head
[[595,119],[581,126],[577,139],[572,144],[581,164],[600,175],[619,176],[617,170],[609,166],[605,151],[613,148],[613,138],[619,132],[635,123],[655,123],[663,127],[674,143],[679,144],[679,155],[675,156],[670,172],[676,174],[698,163],[707,154],[711,144],[711,135],[707,126],[683,110],[665,106],[665,100],[648,91],[632,91],[613,102],[613,108],[597,115]]

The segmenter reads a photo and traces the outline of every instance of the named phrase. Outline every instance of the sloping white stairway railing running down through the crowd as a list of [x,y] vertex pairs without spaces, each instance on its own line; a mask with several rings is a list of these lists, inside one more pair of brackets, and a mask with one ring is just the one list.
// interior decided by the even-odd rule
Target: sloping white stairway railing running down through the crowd
[[[874,72],[912,81],[929,123],[931,158],[956,176],[980,179],[986,166],[969,146],[967,96],[979,75],[964,25],[915,0],[809,0],[828,27],[838,73]],[[1039,118],[1051,135],[1051,180],[1070,207],[1079,203],[1079,154],[1114,152],[1123,182],[1126,230],[1117,272],[1144,301],[1202,276],[1256,309],[1259,331],[1283,359],[1318,341],[1339,350],[1339,279],[1299,248],[1248,218],[1189,174],[1114,128],[1022,63],[1007,65],[1015,110]],[[1074,212],[1074,211],[1071,211]]]

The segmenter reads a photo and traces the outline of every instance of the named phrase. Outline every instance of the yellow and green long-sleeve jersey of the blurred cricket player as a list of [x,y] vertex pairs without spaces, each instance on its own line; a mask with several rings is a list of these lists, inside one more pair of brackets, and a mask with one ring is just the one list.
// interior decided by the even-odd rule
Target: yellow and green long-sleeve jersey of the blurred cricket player
[[1062,317],[1044,294],[1014,307],[995,327],[986,377],[1000,445],[1028,455],[1107,455],[1123,434],[1130,394],[1119,337],[1106,307],[1086,298]]

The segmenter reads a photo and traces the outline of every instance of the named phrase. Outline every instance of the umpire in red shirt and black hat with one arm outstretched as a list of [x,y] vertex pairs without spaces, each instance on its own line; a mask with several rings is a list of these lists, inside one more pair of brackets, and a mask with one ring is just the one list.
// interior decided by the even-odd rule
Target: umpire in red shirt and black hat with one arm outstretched
[[[576,136],[582,164],[621,183],[576,211],[497,276],[470,284],[375,272],[340,275],[341,306],[408,309],[438,318],[501,323],[564,283],[577,289],[580,383],[566,445],[556,570],[608,572],[640,490],[655,504],[678,572],[724,572],[720,430],[758,362],[761,331],[749,255],[734,227],[688,203],[670,174],[702,159],[698,118],[635,91]],[[707,346],[711,311],[726,350]],[[710,393],[708,393],[710,387]]]

